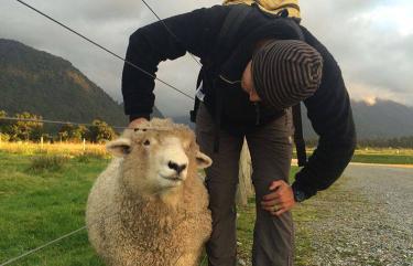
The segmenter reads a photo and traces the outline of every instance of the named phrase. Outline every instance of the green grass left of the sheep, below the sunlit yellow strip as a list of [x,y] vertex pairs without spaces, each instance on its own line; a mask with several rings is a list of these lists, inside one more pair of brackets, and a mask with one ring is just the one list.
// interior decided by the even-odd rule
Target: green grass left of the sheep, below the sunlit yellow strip
[[[88,191],[107,160],[55,161],[0,152],[0,263],[85,225]],[[33,164],[41,167],[33,170]],[[15,265],[101,263],[83,231]]]

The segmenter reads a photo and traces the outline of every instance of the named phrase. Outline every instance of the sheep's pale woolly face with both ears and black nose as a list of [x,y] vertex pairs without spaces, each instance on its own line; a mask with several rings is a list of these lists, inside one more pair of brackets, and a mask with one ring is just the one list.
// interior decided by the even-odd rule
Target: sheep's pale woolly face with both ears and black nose
[[130,131],[110,142],[108,150],[123,157],[124,182],[137,193],[157,193],[180,187],[188,171],[211,163],[199,152],[188,129]]

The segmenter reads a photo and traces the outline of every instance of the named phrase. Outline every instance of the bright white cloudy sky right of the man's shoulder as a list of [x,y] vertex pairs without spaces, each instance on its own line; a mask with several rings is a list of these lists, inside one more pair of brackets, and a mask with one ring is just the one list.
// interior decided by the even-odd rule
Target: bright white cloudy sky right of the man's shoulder
[[314,0],[302,1],[302,10],[303,23],[338,61],[351,97],[412,105],[411,1]]

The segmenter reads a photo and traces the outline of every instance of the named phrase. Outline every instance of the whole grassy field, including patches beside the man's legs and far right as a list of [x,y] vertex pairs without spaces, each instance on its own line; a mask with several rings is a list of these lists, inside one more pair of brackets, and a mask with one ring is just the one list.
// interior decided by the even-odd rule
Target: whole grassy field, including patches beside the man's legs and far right
[[[359,156],[359,157],[357,157]],[[390,157],[406,157],[413,151],[363,150],[356,158],[368,162]],[[372,158],[372,159],[371,159]],[[361,159],[360,159],[361,160]],[[395,161],[392,159],[392,161]],[[401,161],[398,157],[396,161]],[[41,246],[85,225],[85,203],[88,191],[105,169],[108,156],[101,146],[83,145],[70,148],[37,145],[8,145],[0,147],[0,264],[11,257]],[[292,177],[297,168],[293,168]],[[254,221],[254,200],[239,208],[239,256],[250,259]],[[317,220],[318,210],[297,206],[293,214],[296,225],[295,265],[306,265],[312,254],[309,232],[301,230],[306,221]],[[88,244],[86,231],[81,231],[57,244],[32,254],[14,265],[83,266],[102,265]]]

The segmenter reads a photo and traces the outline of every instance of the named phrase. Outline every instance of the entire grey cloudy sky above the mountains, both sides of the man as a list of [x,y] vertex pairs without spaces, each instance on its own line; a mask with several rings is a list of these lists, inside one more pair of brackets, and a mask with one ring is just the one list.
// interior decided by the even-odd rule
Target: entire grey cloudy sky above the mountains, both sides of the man
[[[25,0],[124,56],[129,35],[156,21],[140,0]],[[161,18],[219,4],[216,0],[146,0]],[[355,99],[376,97],[413,106],[412,0],[301,0],[303,24],[335,55]],[[123,63],[15,0],[1,0],[0,38],[62,56],[121,102]],[[157,76],[194,93],[198,65],[189,56],[160,65]],[[156,106],[186,115],[192,100],[157,85]]]

